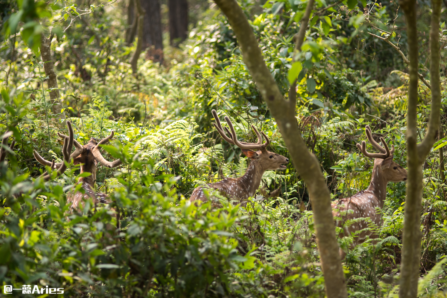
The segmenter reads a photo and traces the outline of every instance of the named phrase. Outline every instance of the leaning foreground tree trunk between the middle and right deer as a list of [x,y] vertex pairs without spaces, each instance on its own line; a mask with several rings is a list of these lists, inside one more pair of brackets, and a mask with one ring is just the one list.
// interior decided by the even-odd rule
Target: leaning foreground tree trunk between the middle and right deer
[[[308,186],[328,298],[347,297],[329,189],[316,156],[308,151],[296,123],[296,97],[285,100],[262,58],[257,39],[236,0],[215,0],[236,34],[244,62],[278,124],[293,164]],[[312,8],[312,4],[309,5]],[[302,24],[306,27],[307,24]],[[305,29],[305,28],[304,28]]]

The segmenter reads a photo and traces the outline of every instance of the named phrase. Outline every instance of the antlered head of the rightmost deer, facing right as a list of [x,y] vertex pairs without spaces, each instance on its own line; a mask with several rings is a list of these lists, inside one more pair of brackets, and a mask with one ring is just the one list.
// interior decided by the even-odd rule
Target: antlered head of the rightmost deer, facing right
[[366,135],[368,141],[374,146],[380,153],[369,153],[366,151],[366,142],[362,141],[362,145],[357,144],[358,149],[366,157],[375,158],[373,175],[381,176],[387,182],[401,182],[407,180],[407,170],[402,168],[399,164],[396,164],[393,159],[394,145],[391,145],[391,150],[389,150],[387,143],[383,137],[380,137],[380,141],[384,147],[380,146],[371,135],[371,128],[369,125],[366,126]]

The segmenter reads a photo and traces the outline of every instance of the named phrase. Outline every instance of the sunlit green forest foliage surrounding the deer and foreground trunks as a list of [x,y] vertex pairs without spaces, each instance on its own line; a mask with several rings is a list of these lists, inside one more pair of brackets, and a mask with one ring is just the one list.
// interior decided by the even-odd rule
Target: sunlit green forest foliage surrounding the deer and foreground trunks
[[[316,1],[300,63],[292,61],[293,37],[306,1],[239,4],[284,96],[291,74],[298,76],[296,120],[333,199],[369,185],[373,161],[355,147],[366,139],[366,124],[396,147],[394,160],[406,167],[409,76],[398,3]],[[418,1],[420,139],[430,109],[430,10]],[[292,164],[267,171],[245,205],[187,201],[194,187],[241,176],[248,166],[220,139],[211,109],[237,123],[240,139],[256,139],[253,124],[271,139],[269,150],[290,158],[214,2],[2,0],[0,15],[0,131],[12,131],[17,142],[0,177],[2,285],[62,287],[67,297],[324,295],[312,206]],[[446,282],[444,22],[440,39],[443,112],[423,167],[421,297],[444,297]],[[34,181],[46,169],[32,151],[48,160],[62,156],[56,132],[67,130],[64,119],[80,143],[115,131],[104,155],[124,164],[100,167],[96,181],[113,206],[87,203],[64,214],[79,166],[51,182]],[[379,242],[351,250],[352,237],[337,239],[347,250],[352,297],[399,290],[405,183],[390,183],[387,192],[383,225],[368,227]],[[120,211],[118,221],[111,207]]]

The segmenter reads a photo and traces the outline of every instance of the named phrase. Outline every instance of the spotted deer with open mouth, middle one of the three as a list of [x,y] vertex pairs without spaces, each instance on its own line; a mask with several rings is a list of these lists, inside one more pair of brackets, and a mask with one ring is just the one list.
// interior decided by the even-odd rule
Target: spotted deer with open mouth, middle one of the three
[[245,172],[245,174],[239,178],[225,178],[220,180],[219,182],[209,183],[206,186],[199,186],[194,189],[191,194],[190,201],[207,201],[207,197],[203,192],[203,189],[217,190],[222,195],[233,198],[233,199],[247,199],[248,197],[253,196],[256,190],[261,183],[262,174],[264,174],[267,170],[284,170],[287,167],[283,164],[287,164],[289,159],[284,157],[283,155],[279,155],[274,152],[267,151],[267,146],[270,144],[269,138],[266,136],[264,132],[261,131],[261,134],[266,139],[265,143],[262,143],[261,134],[257,131],[256,127],[252,125],[253,131],[257,135],[257,143],[245,143],[237,140],[236,132],[230,121],[230,118],[225,116],[225,121],[228,123],[230,130],[225,127],[227,131],[228,137],[223,131],[223,127],[220,124],[219,116],[217,112],[213,109],[211,113],[214,116],[215,122],[213,125],[222,136],[222,138],[232,145],[236,145],[242,152],[250,159],[250,165]]

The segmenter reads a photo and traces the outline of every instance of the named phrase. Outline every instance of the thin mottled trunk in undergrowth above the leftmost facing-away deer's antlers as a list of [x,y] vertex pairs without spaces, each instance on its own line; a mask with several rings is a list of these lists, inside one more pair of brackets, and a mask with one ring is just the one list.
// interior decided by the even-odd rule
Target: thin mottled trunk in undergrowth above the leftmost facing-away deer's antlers
[[[46,38],[46,36],[42,33],[41,41],[40,41],[40,55],[42,57],[43,69],[45,70],[45,75],[48,76],[46,79],[46,84],[48,85],[48,89],[50,88],[58,88],[57,77],[54,67],[54,62],[51,59],[51,40]],[[61,112],[62,106],[58,102],[59,99],[59,90],[53,90],[50,92],[50,100],[52,104],[52,112],[55,114],[61,114],[60,117],[65,119],[65,113]]]

